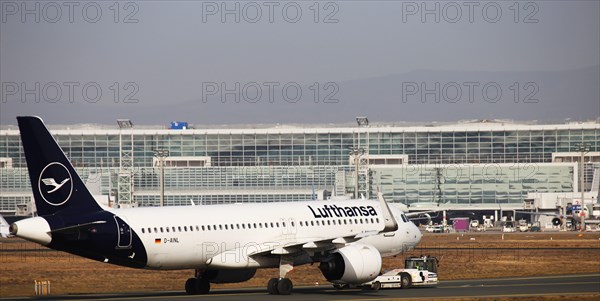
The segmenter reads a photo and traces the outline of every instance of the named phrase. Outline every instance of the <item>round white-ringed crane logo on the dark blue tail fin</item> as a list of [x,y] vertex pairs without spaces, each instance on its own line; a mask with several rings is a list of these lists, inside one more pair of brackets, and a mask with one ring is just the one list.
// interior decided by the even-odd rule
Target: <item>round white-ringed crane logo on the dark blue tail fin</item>
[[60,206],[66,203],[73,193],[73,178],[63,164],[52,162],[42,169],[38,189],[46,203]]

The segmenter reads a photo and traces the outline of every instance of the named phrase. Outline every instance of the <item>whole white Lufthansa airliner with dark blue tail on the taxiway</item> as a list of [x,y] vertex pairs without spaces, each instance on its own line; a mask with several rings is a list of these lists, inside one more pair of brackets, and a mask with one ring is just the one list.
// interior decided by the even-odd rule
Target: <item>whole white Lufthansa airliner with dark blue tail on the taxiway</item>
[[319,263],[334,284],[377,277],[382,257],[413,249],[418,228],[378,200],[113,209],[99,205],[39,117],[17,117],[38,216],[10,233],[52,249],[140,269],[190,269],[189,294],[279,268],[270,294],[287,295],[294,266]]

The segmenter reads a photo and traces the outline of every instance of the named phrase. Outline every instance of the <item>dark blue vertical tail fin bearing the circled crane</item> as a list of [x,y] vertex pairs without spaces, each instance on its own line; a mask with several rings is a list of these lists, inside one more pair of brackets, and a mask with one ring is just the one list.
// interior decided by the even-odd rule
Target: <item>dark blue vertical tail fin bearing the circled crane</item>
[[17,117],[38,215],[102,211],[39,117]]

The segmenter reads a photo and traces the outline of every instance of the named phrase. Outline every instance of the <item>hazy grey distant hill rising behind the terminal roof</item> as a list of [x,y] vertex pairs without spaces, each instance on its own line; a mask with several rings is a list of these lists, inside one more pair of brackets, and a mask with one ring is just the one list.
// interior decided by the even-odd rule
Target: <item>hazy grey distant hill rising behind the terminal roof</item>
[[[440,93],[424,95],[421,85]],[[515,86],[514,83],[518,83]],[[528,84],[529,83],[529,84]],[[470,72],[420,70],[374,78],[337,82],[325,89],[320,83],[320,98],[315,102],[314,86],[302,83],[302,98],[289,103],[281,96],[281,86],[269,101],[268,89],[256,103],[235,103],[231,96],[222,103],[220,94],[202,101],[198,98],[173,101],[164,105],[138,104],[70,104],[14,103],[0,104],[0,123],[15,124],[15,116],[40,115],[47,123],[114,123],[117,118],[130,118],[137,124],[168,124],[172,120],[193,124],[251,123],[343,123],[355,116],[368,116],[372,121],[455,121],[464,119],[513,119],[560,121],[595,119],[600,115],[600,66],[559,72]],[[482,96],[487,84],[488,100]],[[444,85],[446,89],[444,89]],[[403,88],[404,87],[404,88]],[[462,97],[457,98],[457,87]],[[515,90],[519,99],[515,100]],[[418,91],[415,89],[418,88]],[[496,97],[497,89],[502,97]],[[335,90],[337,89],[337,90]],[[404,91],[403,91],[404,89]],[[412,89],[412,90],[408,90]],[[254,90],[249,90],[249,97]],[[407,91],[414,91],[406,93]],[[290,97],[295,95],[289,90]],[[323,103],[329,93],[337,103]],[[403,99],[403,92],[405,96]],[[474,92],[472,97],[469,93]],[[446,99],[444,99],[444,95]],[[530,96],[530,102],[524,100]],[[439,102],[435,101],[435,98]],[[455,100],[453,100],[456,98]],[[533,101],[537,99],[537,101]],[[472,102],[471,102],[471,101]]]

